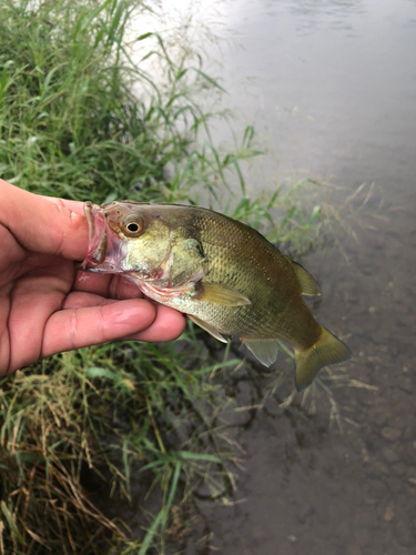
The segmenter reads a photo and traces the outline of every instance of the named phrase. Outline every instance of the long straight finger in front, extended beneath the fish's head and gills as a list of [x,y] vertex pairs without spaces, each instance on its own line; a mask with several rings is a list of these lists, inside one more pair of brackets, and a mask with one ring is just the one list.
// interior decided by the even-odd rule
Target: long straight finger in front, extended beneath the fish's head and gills
[[149,327],[155,315],[154,305],[142,299],[55,312],[44,326],[41,355],[49,356],[135,334]]

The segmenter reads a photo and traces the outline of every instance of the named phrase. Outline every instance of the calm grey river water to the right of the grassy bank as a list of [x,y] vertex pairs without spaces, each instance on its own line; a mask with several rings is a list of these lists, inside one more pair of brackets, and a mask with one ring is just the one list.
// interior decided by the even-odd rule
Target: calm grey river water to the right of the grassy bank
[[184,553],[415,554],[416,2],[234,0],[221,11],[236,32],[221,60],[226,103],[242,127],[255,119],[270,153],[248,185],[311,176],[342,202],[374,183],[385,219],[303,260],[323,292],[317,320],[346,339],[349,376],[369,387],[334,390],[343,431],[323,395],[315,416],[275,398],[237,428],[234,504],[201,503],[212,535]]

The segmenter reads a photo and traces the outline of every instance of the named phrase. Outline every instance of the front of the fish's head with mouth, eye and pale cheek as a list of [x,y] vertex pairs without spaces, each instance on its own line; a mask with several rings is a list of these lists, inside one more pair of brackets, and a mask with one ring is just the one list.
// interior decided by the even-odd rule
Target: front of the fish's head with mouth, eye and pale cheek
[[95,273],[134,272],[156,279],[170,254],[170,225],[151,204],[84,203],[89,249],[80,269]]

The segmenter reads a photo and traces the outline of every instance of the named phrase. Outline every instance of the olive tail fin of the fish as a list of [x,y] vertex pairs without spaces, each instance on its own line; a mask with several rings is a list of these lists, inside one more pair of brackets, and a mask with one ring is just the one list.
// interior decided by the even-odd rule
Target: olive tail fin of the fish
[[295,350],[297,391],[307,387],[324,366],[338,364],[349,357],[349,349],[325,327],[321,327],[321,336],[312,347]]

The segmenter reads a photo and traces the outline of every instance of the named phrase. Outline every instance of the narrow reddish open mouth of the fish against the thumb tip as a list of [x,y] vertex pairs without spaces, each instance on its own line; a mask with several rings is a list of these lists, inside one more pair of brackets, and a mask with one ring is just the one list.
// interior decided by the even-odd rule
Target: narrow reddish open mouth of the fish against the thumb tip
[[106,256],[106,224],[100,206],[92,202],[84,203],[84,213],[88,223],[89,248],[85,260],[81,262],[81,270],[91,270],[102,264]]

